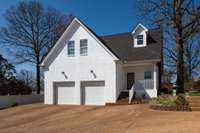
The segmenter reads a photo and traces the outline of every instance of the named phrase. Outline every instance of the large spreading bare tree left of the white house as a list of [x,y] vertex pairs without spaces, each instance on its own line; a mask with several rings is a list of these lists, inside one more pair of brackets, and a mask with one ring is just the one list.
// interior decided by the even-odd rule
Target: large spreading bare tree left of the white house
[[8,24],[1,28],[0,41],[13,48],[16,63],[33,63],[37,93],[40,93],[40,63],[66,29],[69,19],[37,1],[21,1],[5,13]]

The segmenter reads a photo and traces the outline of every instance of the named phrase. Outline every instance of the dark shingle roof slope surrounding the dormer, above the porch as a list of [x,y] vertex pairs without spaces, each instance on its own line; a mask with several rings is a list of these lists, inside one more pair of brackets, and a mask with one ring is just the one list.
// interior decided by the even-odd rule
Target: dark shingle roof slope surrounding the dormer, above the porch
[[121,60],[140,61],[161,59],[162,57],[162,32],[160,29],[150,29],[147,32],[146,47],[134,48],[131,32],[101,36],[100,38]]

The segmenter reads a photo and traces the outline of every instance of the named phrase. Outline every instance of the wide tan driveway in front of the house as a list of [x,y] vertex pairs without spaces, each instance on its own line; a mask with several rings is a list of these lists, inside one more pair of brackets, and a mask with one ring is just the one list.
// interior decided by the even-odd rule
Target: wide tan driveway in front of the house
[[1,133],[199,133],[200,112],[161,112],[147,105],[31,104],[0,110]]

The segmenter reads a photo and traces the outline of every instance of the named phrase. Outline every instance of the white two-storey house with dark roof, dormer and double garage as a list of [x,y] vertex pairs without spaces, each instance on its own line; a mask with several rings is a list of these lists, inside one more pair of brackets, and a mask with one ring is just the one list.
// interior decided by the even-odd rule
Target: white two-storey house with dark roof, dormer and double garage
[[157,96],[162,33],[139,24],[132,32],[98,36],[74,18],[43,63],[45,104],[105,105],[122,92]]

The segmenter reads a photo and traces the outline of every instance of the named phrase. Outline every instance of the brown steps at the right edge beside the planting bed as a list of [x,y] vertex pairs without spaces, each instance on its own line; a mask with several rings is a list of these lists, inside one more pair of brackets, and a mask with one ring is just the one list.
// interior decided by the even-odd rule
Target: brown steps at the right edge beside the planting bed
[[200,111],[200,96],[189,96],[187,101],[191,111]]

